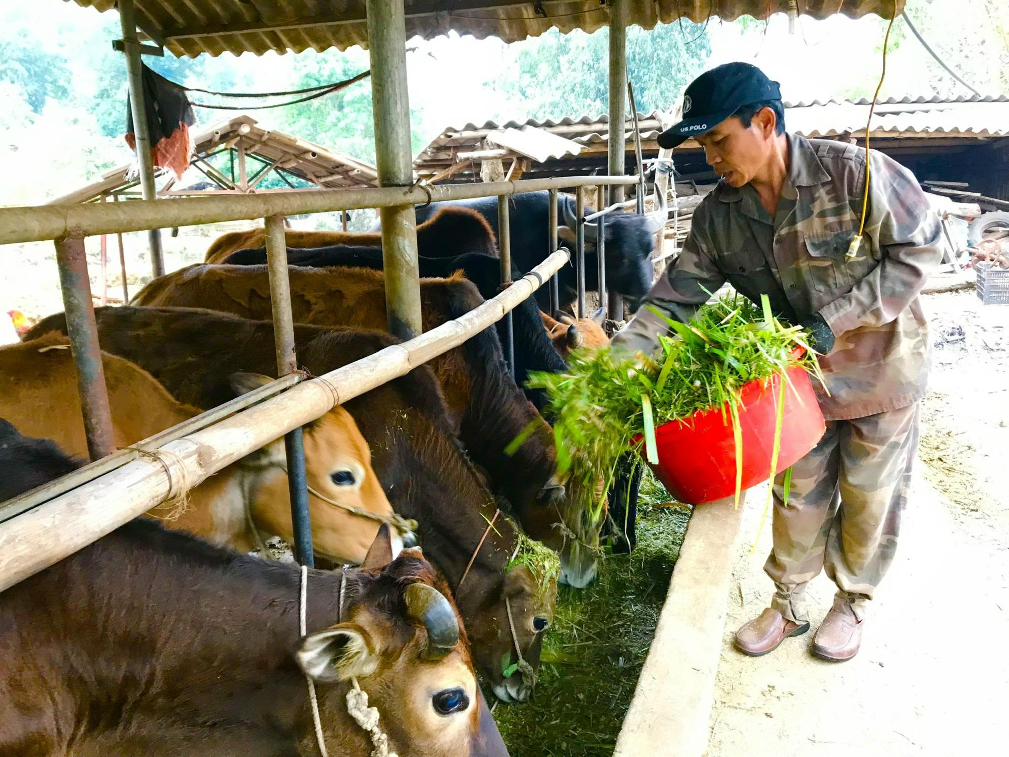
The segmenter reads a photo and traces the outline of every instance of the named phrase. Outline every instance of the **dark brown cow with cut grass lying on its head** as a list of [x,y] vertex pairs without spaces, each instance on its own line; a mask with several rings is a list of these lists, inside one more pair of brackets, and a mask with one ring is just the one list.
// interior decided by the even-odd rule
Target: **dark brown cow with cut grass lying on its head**
[[[200,408],[231,399],[232,372],[275,374],[269,322],[205,310],[130,307],[98,308],[96,320],[105,351],[136,362],[178,400]],[[66,328],[63,314],[50,316],[28,338]],[[296,325],[295,343],[299,364],[320,375],[398,342],[376,331]],[[528,569],[508,568],[516,527],[498,518],[487,530],[493,498],[458,446],[433,372],[420,366],[342,407],[368,442],[371,465],[393,509],[419,521],[422,546],[453,587],[486,532],[456,601],[474,659],[495,693],[506,700],[527,698],[531,689],[519,675],[502,675],[502,658],[515,661],[504,598],[511,598],[523,655],[537,666],[538,629],[553,618],[554,587],[544,594]]]

